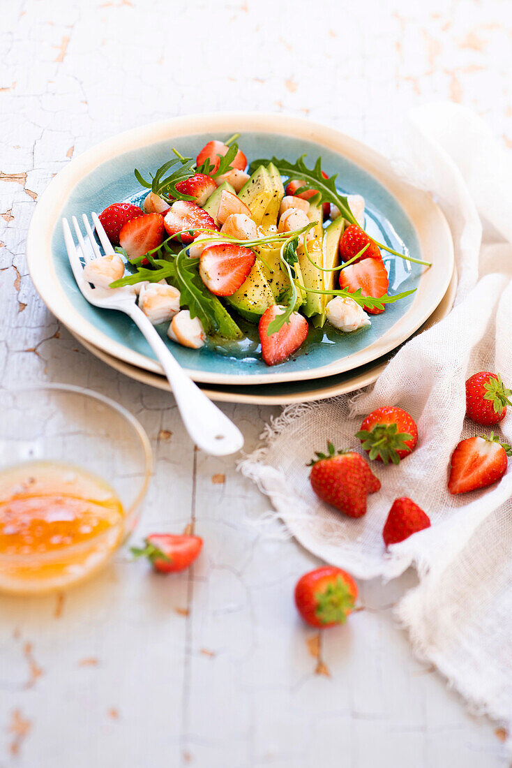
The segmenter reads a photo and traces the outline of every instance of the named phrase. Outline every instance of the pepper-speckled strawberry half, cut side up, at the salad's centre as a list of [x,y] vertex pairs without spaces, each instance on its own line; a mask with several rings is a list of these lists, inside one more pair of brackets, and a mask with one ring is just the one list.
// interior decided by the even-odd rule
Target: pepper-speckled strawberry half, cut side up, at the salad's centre
[[215,243],[200,255],[199,273],[206,288],[216,296],[233,296],[253,269],[256,256],[249,248]]

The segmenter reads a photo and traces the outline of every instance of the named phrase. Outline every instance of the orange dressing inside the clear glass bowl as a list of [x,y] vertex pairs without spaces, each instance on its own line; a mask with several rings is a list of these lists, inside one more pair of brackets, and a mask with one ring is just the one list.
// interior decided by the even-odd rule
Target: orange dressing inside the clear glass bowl
[[54,462],[0,472],[0,589],[41,592],[91,574],[119,545],[124,509],[97,475]]

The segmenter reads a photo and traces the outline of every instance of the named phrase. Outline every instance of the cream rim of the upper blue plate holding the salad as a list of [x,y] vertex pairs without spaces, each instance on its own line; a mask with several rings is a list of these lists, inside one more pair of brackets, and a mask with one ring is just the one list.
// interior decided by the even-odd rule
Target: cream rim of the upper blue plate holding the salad
[[[344,154],[353,163],[358,164],[368,174],[371,174],[378,180],[379,184],[385,187],[388,194],[397,200],[398,204],[405,210],[408,218],[415,227],[423,247],[421,234],[418,232],[417,221],[411,217],[411,207],[414,207],[414,199],[421,198],[421,209],[428,211],[429,221],[437,220],[436,231],[440,233],[445,240],[443,249],[443,260],[451,264],[451,269],[444,271],[444,279],[436,286],[436,300],[434,305],[425,303],[424,309],[418,312],[418,301],[420,294],[415,296],[411,305],[408,307],[405,315],[401,316],[396,323],[385,332],[383,336],[376,339],[374,343],[358,350],[358,352],[345,356],[339,360],[329,362],[323,366],[315,366],[306,370],[297,370],[296,372],[265,372],[248,374],[230,374],[219,372],[204,372],[193,369],[187,369],[187,374],[197,382],[210,384],[224,384],[230,386],[271,384],[278,382],[292,382],[312,378],[324,378],[337,373],[348,372],[367,365],[379,357],[389,353],[396,346],[409,338],[412,333],[423,325],[438,303],[441,302],[444,293],[448,289],[451,280],[454,265],[454,244],[451,237],[451,231],[448,222],[442,214],[441,209],[434,203],[431,196],[423,190],[412,187],[405,180],[398,177],[390,162],[372,147],[368,147],[357,139],[343,134],[335,128],[328,127],[319,123],[299,118],[295,115],[286,113],[253,113],[224,111],[216,113],[192,114],[180,116],[177,118],[168,118],[167,120],[157,121],[135,127],[129,131],[123,131],[107,138],[101,143],[90,147],[81,155],[71,160],[48,185],[46,190],[38,199],[38,204],[31,218],[27,237],[27,262],[31,280],[41,299],[53,313],[68,329],[77,333],[81,338],[87,339],[89,343],[98,349],[103,349],[105,353],[126,362],[128,365],[140,369],[146,369],[149,372],[161,374],[163,369],[157,361],[154,361],[140,353],[135,352],[117,340],[111,339],[101,330],[97,329],[84,320],[83,316],[76,310],[64,293],[61,283],[55,272],[53,259],[51,258],[51,236],[58,226],[58,218],[65,200],[71,191],[78,184],[78,181],[88,174],[97,165],[124,154],[127,151],[136,150],[138,147],[145,147],[157,141],[177,137],[179,135],[193,135],[198,132],[198,125],[202,131],[229,131],[233,127],[232,123],[236,121],[237,126],[243,130],[259,131],[262,133],[280,133],[290,136],[300,137],[302,139],[315,141],[317,144]],[[391,184],[391,188],[390,188]],[[408,190],[408,196],[397,197],[395,189]],[[45,259],[41,259],[41,248],[45,249]],[[425,273],[422,273],[421,280]],[[57,289],[57,290],[55,290]],[[441,292],[442,289],[442,292]],[[423,303],[420,301],[421,306]],[[405,323],[405,320],[415,316],[412,323]],[[404,325],[407,330],[404,331]],[[85,326],[85,327],[84,327]],[[400,330],[401,329],[401,330]],[[84,333],[85,331],[85,333]],[[372,351],[373,350],[373,351]]]

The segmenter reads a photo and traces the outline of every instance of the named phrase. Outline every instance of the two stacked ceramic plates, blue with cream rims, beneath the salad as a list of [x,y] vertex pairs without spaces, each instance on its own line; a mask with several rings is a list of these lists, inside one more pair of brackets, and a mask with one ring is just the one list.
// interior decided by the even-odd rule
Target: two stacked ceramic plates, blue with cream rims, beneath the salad
[[[28,233],[28,266],[48,308],[71,333],[108,365],[139,381],[168,389],[167,379],[144,338],[127,316],[98,310],[84,300],[72,276],[61,234],[61,217],[103,210],[137,191],[134,167],[154,170],[170,148],[193,157],[211,138],[238,132],[249,157],[307,154],[312,166],[322,157],[329,175],[346,193],[362,194],[366,229],[378,240],[426,268],[385,253],[390,293],[416,289],[372,326],[352,334],[310,329],[298,353],[267,367],[255,343],[185,349],[168,341],[173,353],[212,399],[286,403],[351,392],[377,378],[401,343],[445,316],[454,300],[456,277],[451,233],[431,197],[405,184],[385,158],[337,131],[299,118],[261,114],[211,114],[137,128],[78,157],[58,174],[38,202]],[[140,188],[139,188],[140,189]],[[165,336],[165,329],[162,329]]]

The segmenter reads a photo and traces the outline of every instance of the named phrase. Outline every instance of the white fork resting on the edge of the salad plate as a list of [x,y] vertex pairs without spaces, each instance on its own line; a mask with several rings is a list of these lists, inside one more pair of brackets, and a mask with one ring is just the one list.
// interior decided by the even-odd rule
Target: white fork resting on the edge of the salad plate
[[[107,233],[96,214],[91,214],[94,227],[100,239],[105,255],[115,253],[108,240]],[[167,380],[173,390],[183,424],[193,442],[206,453],[215,456],[224,456],[239,451],[243,446],[243,435],[238,427],[227,418],[217,406],[201,392],[192,379],[187,376],[174,358],[170,349],[161,339],[157,330],[151,325],[150,320],[144,315],[135,302],[136,295],[129,286],[125,288],[95,288],[84,280],[84,267],[80,259],[80,252],[85,263],[101,257],[101,251],[94,238],[94,232],[88,217],[83,214],[84,227],[87,233],[87,241],[81,233],[76,217],[73,217],[74,231],[78,239],[78,248],[74,243],[68,220],[62,220],[64,230],[64,242],[68,250],[69,262],[73,270],[74,279],[85,298],[94,306],[100,306],[105,310],[118,310],[124,312],[136,323],[144,334],[147,343],[153,349],[160,360]]]

